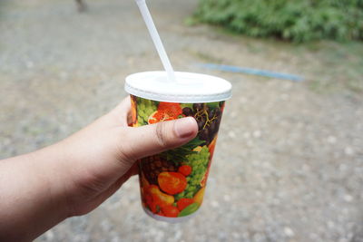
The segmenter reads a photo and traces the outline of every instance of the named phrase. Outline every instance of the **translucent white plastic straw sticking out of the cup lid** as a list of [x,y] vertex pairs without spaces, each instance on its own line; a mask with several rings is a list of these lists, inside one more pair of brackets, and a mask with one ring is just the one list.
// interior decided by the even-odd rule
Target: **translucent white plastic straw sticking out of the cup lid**
[[160,59],[162,59],[162,65],[164,66],[164,69],[168,75],[168,79],[171,82],[175,82],[175,74],[174,70],[172,69],[172,63],[169,60],[168,54],[165,52],[160,35],[158,34],[155,24],[152,21],[152,15],[149,12],[149,8],[147,7],[145,0],[136,0],[136,3],[139,6],[140,12],[142,13],[142,18],[145,21],[150,35],[152,36],[153,44],[155,44]]

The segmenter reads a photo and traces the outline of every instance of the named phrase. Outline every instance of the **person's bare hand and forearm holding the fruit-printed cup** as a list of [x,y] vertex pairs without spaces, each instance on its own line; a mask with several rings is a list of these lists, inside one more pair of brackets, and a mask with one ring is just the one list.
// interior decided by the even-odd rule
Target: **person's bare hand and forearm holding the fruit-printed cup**
[[[137,173],[135,160],[193,139],[193,118],[131,128],[130,99],[43,150],[0,161],[0,240],[26,241],[83,215]],[[6,241],[7,241],[6,240]]]

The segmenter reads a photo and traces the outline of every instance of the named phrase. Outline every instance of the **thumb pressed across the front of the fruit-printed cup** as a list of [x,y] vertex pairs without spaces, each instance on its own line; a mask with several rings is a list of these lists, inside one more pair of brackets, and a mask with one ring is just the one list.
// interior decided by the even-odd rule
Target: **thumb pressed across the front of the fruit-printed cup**
[[123,141],[123,157],[133,162],[143,157],[171,150],[192,140],[198,132],[194,118],[162,121],[138,128],[128,128]]

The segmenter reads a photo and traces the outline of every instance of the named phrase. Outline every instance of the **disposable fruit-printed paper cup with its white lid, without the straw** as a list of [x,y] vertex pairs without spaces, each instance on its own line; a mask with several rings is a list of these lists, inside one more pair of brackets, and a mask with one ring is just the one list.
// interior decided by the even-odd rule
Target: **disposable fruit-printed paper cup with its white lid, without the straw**
[[231,83],[199,73],[134,73],[126,78],[132,127],[187,116],[198,123],[197,137],[182,147],[138,160],[142,208],[157,220],[185,221],[201,208],[221,115]]

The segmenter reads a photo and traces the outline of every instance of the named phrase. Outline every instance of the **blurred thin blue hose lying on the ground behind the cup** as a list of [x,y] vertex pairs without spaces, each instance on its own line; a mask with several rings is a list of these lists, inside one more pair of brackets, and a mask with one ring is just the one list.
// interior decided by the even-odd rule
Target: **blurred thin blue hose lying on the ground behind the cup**
[[252,69],[247,67],[239,67],[233,65],[225,65],[225,64],[216,64],[216,63],[198,63],[198,66],[211,69],[211,70],[219,70],[223,72],[230,72],[230,73],[246,73],[252,75],[260,75],[270,78],[277,78],[277,79],[284,79],[293,82],[303,82],[304,78],[299,75],[288,74],[288,73],[274,73],[266,70],[260,69]]

